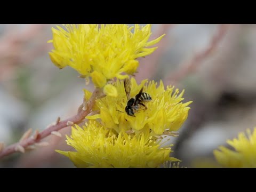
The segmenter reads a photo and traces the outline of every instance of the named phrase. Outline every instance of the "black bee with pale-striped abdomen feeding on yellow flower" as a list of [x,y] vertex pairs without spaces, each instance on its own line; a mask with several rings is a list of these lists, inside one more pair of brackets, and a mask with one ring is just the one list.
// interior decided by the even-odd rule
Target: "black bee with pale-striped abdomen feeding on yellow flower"
[[134,110],[138,110],[139,105],[143,106],[146,110],[147,106],[145,106],[143,104],[143,102],[150,101],[150,100],[152,100],[152,98],[150,97],[150,95],[148,93],[142,92],[143,87],[141,88],[139,93],[135,96],[135,98],[130,98],[131,86],[132,86],[132,84],[131,84],[130,79],[126,78],[124,80],[124,90],[125,90],[126,97],[127,97],[128,101],[127,101],[127,106],[125,107],[125,112],[127,115],[135,117]]

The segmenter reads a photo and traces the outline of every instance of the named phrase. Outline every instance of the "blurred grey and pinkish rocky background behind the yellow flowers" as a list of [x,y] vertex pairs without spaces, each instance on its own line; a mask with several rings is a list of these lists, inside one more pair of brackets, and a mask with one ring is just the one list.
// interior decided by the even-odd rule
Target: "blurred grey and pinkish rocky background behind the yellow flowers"
[[[52,44],[46,42],[54,26],[0,25],[0,141],[5,145],[29,128],[43,130],[58,116],[75,115],[82,103],[84,80],[49,58]],[[153,36],[163,33],[158,50],[140,59],[136,78],[163,79],[186,90],[185,100],[193,103],[180,136],[171,138],[173,156],[182,166],[204,167],[214,162],[213,149],[256,126],[256,25],[153,25]],[[70,127],[60,132],[62,138],[45,139],[49,146],[5,157],[0,167],[74,167],[54,151],[69,149]]]

